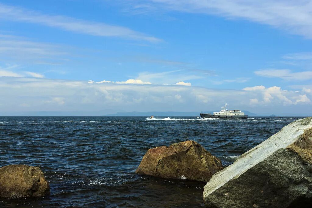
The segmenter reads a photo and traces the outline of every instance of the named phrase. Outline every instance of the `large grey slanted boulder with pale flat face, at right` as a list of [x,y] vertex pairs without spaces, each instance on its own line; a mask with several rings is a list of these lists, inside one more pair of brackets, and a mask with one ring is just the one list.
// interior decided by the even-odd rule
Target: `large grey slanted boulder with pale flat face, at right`
[[290,123],[212,176],[206,207],[312,207],[312,118]]

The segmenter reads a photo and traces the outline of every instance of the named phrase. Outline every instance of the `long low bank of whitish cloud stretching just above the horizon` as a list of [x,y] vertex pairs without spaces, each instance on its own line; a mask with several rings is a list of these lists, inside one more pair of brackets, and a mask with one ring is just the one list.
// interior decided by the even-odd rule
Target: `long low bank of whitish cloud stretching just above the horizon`
[[[1,111],[205,111],[227,101],[233,108],[310,105],[311,94],[280,87],[207,89],[180,85],[93,83],[35,77],[0,77]],[[248,88],[247,88],[248,89]],[[262,90],[261,90],[262,89]],[[235,95],[235,96],[233,96]],[[7,102],[9,100],[10,102]],[[26,103],[27,105],[20,105]],[[250,105],[252,104],[252,105]],[[231,108],[232,108],[231,107]],[[302,108],[292,107],[292,112]]]

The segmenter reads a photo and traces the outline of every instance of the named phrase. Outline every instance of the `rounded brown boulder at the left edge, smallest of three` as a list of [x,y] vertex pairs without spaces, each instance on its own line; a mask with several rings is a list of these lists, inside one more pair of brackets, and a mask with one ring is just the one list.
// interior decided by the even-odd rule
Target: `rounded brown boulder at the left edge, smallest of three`
[[39,167],[9,165],[0,168],[0,197],[24,198],[50,195],[50,187]]

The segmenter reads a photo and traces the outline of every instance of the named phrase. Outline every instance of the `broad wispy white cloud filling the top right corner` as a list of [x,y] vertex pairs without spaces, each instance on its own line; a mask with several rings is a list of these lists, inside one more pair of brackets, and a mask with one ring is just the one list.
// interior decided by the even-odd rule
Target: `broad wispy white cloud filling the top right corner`
[[[137,4],[137,1],[134,2]],[[212,14],[229,19],[241,18],[312,38],[312,22],[310,21],[312,19],[312,3],[310,1],[149,0],[149,2],[148,8],[154,7],[161,11],[167,9]],[[146,7],[142,9],[146,9]]]

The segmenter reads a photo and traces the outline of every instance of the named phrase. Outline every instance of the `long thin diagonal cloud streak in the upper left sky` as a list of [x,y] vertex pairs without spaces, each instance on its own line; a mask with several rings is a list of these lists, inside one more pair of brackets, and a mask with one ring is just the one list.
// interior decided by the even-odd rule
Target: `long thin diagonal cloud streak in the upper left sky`
[[149,42],[161,41],[156,37],[133,31],[127,27],[114,26],[101,22],[90,22],[65,16],[45,15],[4,4],[0,4],[0,18],[16,22],[36,23],[93,36],[123,37]]

